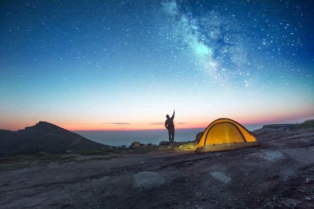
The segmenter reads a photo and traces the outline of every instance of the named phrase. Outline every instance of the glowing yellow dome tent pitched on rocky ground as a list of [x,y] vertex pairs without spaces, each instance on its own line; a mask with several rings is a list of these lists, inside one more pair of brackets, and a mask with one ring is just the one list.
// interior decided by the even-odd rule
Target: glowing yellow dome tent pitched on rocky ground
[[212,121],[205,129],[195,152],[216,152],[251,146],[260,144],[245,127],[232,119],[220,118]]

